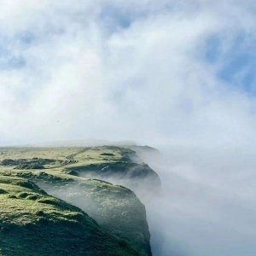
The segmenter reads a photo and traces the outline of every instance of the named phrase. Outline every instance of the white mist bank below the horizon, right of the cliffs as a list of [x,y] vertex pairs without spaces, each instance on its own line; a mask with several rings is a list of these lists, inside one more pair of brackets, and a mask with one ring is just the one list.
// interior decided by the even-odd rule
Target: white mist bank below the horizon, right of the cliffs
[[141,156],[165,193],[162,206],[148,212],[166,228],[163,255],[256,255],[252,150],[173,147]]

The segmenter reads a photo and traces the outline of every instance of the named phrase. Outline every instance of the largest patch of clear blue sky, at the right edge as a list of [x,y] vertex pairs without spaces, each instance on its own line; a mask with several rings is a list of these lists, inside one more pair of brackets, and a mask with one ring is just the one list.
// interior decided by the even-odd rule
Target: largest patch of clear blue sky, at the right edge
[[[255,93],[256,51],[253,42],[247,42],[246,34],[237,33],[228,49],[223,49],[224,39],[213,35],[207,41],[207,62],[220,65],[218,78],[231,84],[237,90],[250,94]],[[253,38],[251,38],[252,40]]]

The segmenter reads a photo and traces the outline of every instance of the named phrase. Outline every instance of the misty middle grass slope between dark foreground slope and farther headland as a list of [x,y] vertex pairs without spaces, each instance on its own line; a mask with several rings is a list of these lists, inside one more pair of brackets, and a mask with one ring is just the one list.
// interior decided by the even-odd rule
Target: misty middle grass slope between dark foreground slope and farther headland
[[146,210],[130,189],[67,174],[17,175],[31,179],[50,195],[80,207],[110,234],[127,241],[139,252],[137,255],[151,255]]

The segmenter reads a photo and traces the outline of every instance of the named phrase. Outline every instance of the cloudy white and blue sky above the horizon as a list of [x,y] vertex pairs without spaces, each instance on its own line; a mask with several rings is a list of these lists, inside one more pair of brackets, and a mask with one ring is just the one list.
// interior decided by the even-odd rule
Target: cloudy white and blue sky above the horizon
[[254,144],[253,1],[0,4],[1,146]]

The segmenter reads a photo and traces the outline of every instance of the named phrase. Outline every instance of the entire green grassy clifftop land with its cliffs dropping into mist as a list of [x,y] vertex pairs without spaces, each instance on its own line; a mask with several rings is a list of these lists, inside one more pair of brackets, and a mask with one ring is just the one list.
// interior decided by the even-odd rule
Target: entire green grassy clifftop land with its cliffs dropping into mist
[[[7,186],[6,183],[0,182],[0,189],[6,192],[2,194],[0,192],[0,194],[4,198],[5,205],[3,207],[9,205],[9,209],[13,209],[5,218],[7,220],[11,218],[15,224],[21,218],[17,216],[24,215],[22,218],[26,218],[28,223],[28,226],[27,224],[15,226],[15,233],[20,234],[20,236],[8,236],[12,238],[7,239],[7,233],[1,231],[0,248],[2,251],[0,252],[2,255],[21,255],[19,252],[26,251],[26,248],[30,247],[30,243],[35,241],[38,243],[38,248],[44,248],[47,247],[48,243],[49,245],[53,243],[47,248],[55,250],[52,253],[55,255],[67,255],[65,253],[72,248],[75,252],[72,255],[102,255],[100,253],[104,250],[104,255],[152,255],[146,209],[139,199],[145,198],[145,195],[148,198],[152,195],[160,195],[160,178],[156,172],[137,157],[131,148],[116,146],[2,148],[1,151],[0,174],[5,175],[1,176],[2,181],[4,178],[6,180],[9,178],[10,182],[9,190],[3,188]],[[11,163],[11,165],[6,163]],[[23,168],[24,163],[30,167]],[[38,165],[40,168],[33,167]],[[15,190],[17,187],[13,186],[17,185],[12,183],[21,181],[20,177],[25,178],[22,181],[32,186],[29,188],[32,191],[27,191],[28,188],[24,188],[24,186],[21,186],[20,190],[18,189],[19,192]],[[19,197],[20,194],[16,196],[16,192],[12,192],[12,189],[18,194],[25,194],[23,197]],[[58,202],[56,205],[61,205],[61,208],[56,210],[56,205],[42,202],[42,197],[45,197],[44,202]],[[19,205],[18,208],[15,207],[16,204]],[[47,207],[54,208],[47,210],[49,214],[44,211],[45,204]],[[30,211],[32,205],[36,205],[38,207],[36,212],[41,213]],[[28,207],[27,211],[25,210],[26,207]],[[34,210],[33,207],[32,209]],[[84,225],[80,223],[82,217],[79,217],[81,218],[79,220],[73,220],[73,218],[68,220],[67,212],[71,212],[70,216],[73,214],[83,216],[82,223]],[[43,215],[38,216],[37,214]],[[62,216],[61,214],[67,215],[65,217],[66,222],[64,221],[64,225],[60,226],[60,229],[56,229],[58,221],[50,220],[55,219],[56,216]],[[15,220],[16,217],[17,220]],[[46,225],[41,224],[41,218],[44,219],[43,222],[47,223]],[[64,219],[64,217],[60,217],[60,219],[62,218]],[[35,219],[38,219],[38,222],[35,222]],[[87,225],[85,220],[90,222],[90,225]],[[67,229],[68,221],[71,224],[73,222],[78,222],[78,224]],[[8,221],[7,223],[12,226],[12,223]],[[88,237],[91,240],[88,239],[87,235],[83,235],[86,232],[89,234],[86,226],[90,226],[89,230],[92,235],[90,234]],[[32,229],[31,232],[29,229]],[[19,232],[17,232],[18,230]],[[37,230],[41,235],[37,236],[34,230]],[[50,236],[47,236],[47,230],[49,230]],[[75,245],[70,246],[67,237],[67,241],[66,238],[61,240],[61,236],[64,236],[65,233],[64,230],[69,230],[70,241],[81,242],[76,242]],[[23,233],[31,233],[32,235],[23,236]],[[93,234],[100,235],[94,236]],[[51,236],[56,237],[55,241],[50,241],[49,237]],[[98,239],[97,236],[101,238]],[[24,241],[24,237],[26,237],[26,241]],[[43,237],[45,238],[43,239]],[[15,240],[16,243],[14,244],[19,245],[17,247],[19,252],[10,254],[10,252],[15,252],[15,247],[8,241]],[[82,241],[86,242],[83,243]],[[90,248],[90,245],[93,248]]]

